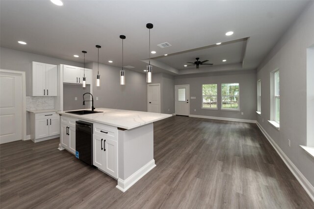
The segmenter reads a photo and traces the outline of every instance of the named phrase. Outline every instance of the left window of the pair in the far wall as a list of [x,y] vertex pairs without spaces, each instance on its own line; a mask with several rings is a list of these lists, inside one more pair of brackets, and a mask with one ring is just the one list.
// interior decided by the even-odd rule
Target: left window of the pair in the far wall
[[203,84],[202,108],[217,109],[217,84]]

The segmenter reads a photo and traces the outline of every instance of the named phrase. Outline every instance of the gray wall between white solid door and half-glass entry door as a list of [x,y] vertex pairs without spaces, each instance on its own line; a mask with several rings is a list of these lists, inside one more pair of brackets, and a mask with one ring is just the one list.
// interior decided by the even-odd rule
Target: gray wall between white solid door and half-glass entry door
[[164,114],[175,113],[175,81],[174,76],[156,73],[153,74],[152,84],[160,84],[160,112]]

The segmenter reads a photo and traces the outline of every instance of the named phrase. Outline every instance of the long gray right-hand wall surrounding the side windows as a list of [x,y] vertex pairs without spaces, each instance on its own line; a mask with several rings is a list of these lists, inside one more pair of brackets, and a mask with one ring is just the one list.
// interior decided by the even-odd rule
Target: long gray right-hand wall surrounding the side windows
[[[314,2],[311,2],[259,66],[257,79],[261,79],[262,115],[257,116],[257,120],[314,186],[314,159],[299,146],[307,144],[306,51],[314,44],[313,25]],[[276,68],[280,71],[280,131],[267,121],[270,117],[270,71]]]

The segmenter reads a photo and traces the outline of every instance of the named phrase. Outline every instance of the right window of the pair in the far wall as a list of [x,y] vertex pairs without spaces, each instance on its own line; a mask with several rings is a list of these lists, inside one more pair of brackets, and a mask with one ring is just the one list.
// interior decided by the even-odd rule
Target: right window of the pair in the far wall
[[239,84],[221,84],[221,109],[239,110]]

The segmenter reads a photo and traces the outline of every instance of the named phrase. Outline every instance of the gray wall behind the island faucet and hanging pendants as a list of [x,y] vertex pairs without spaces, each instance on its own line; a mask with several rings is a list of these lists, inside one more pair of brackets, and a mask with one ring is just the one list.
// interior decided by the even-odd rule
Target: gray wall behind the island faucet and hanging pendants
[[97,63],[89,63],[86,68],[93,69],[93,96],[96,108],[147,111],[147,83],[144,73],[126,70],[126,85],[122,86],[120,68],[99,64],[101,86],[96,87]]

